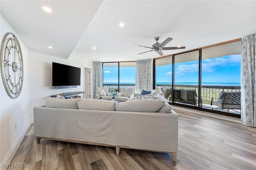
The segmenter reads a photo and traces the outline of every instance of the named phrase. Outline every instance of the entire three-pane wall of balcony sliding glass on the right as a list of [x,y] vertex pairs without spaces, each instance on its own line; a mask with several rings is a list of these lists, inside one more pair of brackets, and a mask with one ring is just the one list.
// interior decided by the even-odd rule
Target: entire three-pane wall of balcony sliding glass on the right
[[[154,59],[156,90],[169,89],[166,100],[172,104],[240,117],[241,45],[237,39]],[[169,63],[163,64],[166,61]],[[221,106],[221,96],[226,92],[228,105],[237,104],[236,109]],[[230,95],[233,92],[235,98]]]

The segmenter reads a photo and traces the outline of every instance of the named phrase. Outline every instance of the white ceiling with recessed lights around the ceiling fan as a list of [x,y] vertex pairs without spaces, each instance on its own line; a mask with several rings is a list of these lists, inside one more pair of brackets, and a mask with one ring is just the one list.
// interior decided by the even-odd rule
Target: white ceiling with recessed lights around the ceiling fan
[[160,57],[154,51],[136,55],[150,49],[133,46],[151,47],[156,36],[160,43],[173,38],[165,47],[186,46],[163,51],[170,55],[256,33],[254,0],[1,0],[0,6],[29,49],[63,59],[72,53],[92,61],[136,61]]

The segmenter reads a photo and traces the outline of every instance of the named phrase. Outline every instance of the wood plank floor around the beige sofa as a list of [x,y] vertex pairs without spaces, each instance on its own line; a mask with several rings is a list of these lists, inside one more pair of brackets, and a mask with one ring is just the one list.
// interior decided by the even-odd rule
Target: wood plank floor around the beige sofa
[[[33,125],[11,163],[34,170],[255,170],[256,128],[175,109],[179,115],[177,162],[168,153],[41,139]],[[22,168],[8,168],[22,169]]]

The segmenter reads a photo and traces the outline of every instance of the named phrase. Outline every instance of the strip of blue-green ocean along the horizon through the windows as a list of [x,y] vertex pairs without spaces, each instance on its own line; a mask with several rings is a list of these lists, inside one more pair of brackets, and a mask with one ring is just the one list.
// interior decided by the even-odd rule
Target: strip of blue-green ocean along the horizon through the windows
[[[117,82],[104,82],[104,84],[118,84]],[[120,84],[135,84],[135,82],[120,82]],[[156,82],[156,84],[172,84],[171,82]],[[178,85],[198,85],[198,82],[175,82]],[[202,82],[202,86],[241,86],[240,82]]]

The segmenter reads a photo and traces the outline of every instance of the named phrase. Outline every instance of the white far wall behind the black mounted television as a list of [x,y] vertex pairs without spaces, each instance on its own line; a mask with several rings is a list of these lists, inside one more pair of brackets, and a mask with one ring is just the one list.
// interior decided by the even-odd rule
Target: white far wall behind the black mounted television
[[[30,49],[28,53],[30,118],[33,117],[33,107],[44,105],[45,98],[47,96],[60,94],[63,92],[84,91],[84,67],[92,68],[92,61],[78,57],[76,55],[71,55],[68,60],[65,60]],[[77,86],[77,88],[64,89],[55,89],[52,87],[52,62],[81,68],[81,86]]]

